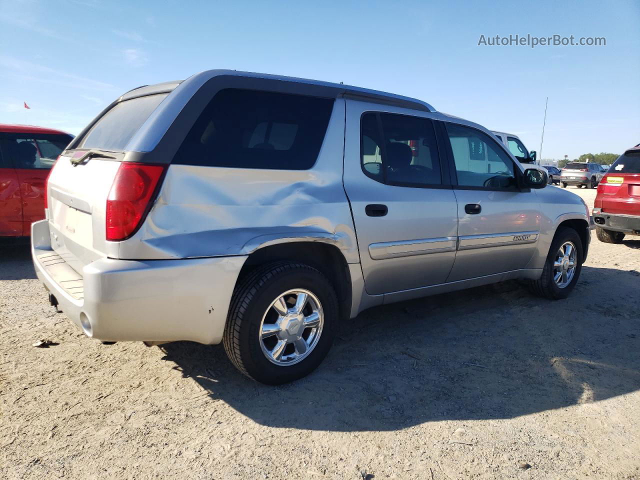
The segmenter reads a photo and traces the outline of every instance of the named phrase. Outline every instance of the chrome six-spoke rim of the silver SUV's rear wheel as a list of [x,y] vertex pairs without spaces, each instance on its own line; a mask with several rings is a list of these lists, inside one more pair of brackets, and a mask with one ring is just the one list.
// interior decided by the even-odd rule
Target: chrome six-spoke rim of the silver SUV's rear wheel
[[271,302],[262,316],[262,353],[279,366],[297,364],[316,347],[323,325],[317,297],[305,289],[288,290]]

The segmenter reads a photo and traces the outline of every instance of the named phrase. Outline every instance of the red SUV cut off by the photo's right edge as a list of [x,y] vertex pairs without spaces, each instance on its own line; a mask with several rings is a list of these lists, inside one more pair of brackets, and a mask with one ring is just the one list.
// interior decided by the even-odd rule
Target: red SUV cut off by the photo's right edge
[[620,243],[625,235],[640,235],[640,144],[609,167],[593,207],[600,241]]

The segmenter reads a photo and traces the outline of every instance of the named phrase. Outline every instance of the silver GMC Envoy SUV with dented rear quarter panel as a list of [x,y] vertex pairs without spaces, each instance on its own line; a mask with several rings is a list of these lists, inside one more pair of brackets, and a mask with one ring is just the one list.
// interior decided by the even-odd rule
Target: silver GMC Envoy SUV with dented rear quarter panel
[[366,308],[511,278],[566,297],[589,211],[546,185],[420,100],[210,70],[125,93],[70,143],[33,260],[89,337],[222,342],[278,384]]

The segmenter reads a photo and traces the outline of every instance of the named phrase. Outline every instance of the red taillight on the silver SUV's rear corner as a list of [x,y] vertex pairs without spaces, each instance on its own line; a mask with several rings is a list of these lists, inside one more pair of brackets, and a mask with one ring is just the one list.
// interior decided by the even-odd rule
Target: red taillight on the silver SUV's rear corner
[[106,237],[122,241],[131,237],[145,219],[165,166],[123,162],[107,198]]

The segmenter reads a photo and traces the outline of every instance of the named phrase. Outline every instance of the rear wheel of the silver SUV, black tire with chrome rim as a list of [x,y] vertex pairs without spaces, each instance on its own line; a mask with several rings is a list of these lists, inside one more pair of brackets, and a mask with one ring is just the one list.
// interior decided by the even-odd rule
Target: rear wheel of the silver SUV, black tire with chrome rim
[[281,385],[306,376],[323,361],[338,316],[335,290],[317,269],[268,264],[237,285],[223,344],[243,374]]

